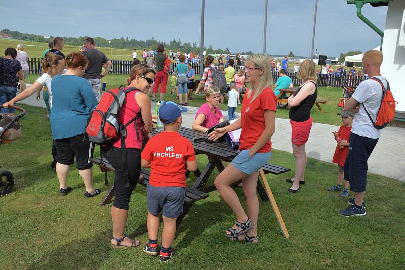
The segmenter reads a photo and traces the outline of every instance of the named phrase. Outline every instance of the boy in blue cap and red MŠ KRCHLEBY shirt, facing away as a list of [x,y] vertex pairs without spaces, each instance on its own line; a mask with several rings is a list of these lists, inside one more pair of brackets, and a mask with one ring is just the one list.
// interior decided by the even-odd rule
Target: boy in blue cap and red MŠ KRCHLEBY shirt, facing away
[[182,123],[181,113],[187,111],[174,102],[165,102],[159,108],[160,121],[165,131],[149,139],[142,151],[142,167],[150,167],[148,200],[149,242],[143,251],[157,255],[157,234],[160,212],[163,232],[160,261],[167,262],[173,256],[172,242],[176,234],[176,220],[183,212],[186,196],[186,172],[197,169],[197,159],[191,142],[178,133]]

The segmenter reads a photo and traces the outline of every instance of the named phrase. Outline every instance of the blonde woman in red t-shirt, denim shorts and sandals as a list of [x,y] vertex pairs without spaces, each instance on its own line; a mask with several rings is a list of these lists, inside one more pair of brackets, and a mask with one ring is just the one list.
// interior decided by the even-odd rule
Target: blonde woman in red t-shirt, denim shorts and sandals
[[[235,224],[225,232],[234,241],[257,242],[257,220],[259,200],[256,185],[259,169],[271,157],[271,136],[275,130],[275,110],[277,100],[271,85],[273,79],[265,54],[253,54],[245,63],[245,72],[251,88],[246,92],[242,103],[241,118],[224,128],[215,129],[209,134],[216,140],[226,132],[242,128],[240,153],[215,179],[215,186],[224,201],[236,215]],[[239,198],[230,185],[242,180],[246,197],[245,213]]]

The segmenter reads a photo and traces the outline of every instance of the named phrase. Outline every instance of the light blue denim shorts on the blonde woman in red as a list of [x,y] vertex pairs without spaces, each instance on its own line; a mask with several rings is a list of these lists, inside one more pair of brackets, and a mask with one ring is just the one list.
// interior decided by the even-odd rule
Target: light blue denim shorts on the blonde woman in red
[[249,158],[249,149],[240,151],[232,160],[232,165],[246,174],[252,174],[258,172],[271,157],[271,151],[265,153],[256,153],[252,158]]

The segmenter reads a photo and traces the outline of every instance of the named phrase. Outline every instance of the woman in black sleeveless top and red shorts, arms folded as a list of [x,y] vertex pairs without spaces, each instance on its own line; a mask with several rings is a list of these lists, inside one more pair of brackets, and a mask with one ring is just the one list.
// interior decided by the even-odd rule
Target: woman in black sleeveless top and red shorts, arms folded
[[312,60],[306,59],[302,62],[298,70],[297,77],[303,83],[288,98],[290,109],[291,142],[293,143],[293,154],[295,157],[295,173],[293,179],[287,179],[293,183],[289,192],[296,193],[300,189],[300,184],[305,184],[304,172],[307,164],[305,153],[305,143],[308,141],[312,127],[311,109],[315,104],[318,91],[316,87],[316,69]]

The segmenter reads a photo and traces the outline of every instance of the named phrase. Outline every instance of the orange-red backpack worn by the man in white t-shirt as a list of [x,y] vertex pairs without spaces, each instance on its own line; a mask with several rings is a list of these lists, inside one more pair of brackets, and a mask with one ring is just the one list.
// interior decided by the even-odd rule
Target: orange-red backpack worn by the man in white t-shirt
[[388,81],[387,81],[387,89],[385,89],[384,84],[381,82],[380,79],[378,79],[378,78],[371,78],[371,79],[380,83],[380,85],[383,89],[383,95],[381,97],[381,105],[376,114],[377,115],[376,121],[373,121],[369,112],[366,110],[366,106],[364,106],[364,103],[363,103],[363,107],[364,107],[367,115],[369,116],[371,122],[373,123],[373,126],[377,129],[383,129],[394,119],[395,103],[397,103],[397,102],[394,100],[394,96],[392,95],[392,92],[389,89]]

